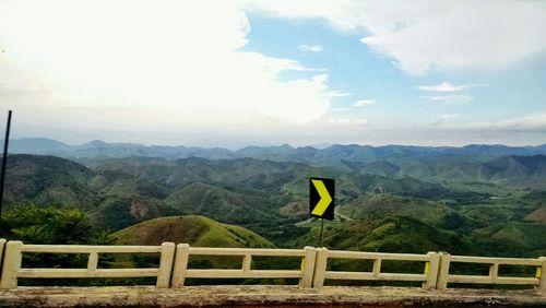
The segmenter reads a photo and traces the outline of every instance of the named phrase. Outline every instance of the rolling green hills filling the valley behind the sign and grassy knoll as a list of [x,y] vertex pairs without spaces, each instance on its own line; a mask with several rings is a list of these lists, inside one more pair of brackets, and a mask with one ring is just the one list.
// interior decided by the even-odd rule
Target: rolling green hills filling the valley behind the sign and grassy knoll
[[335,145],[198,153],[229,154],[209,157],[214,159],[146,157],[152,154],[145,151],[109,155],[112,149],[136,147],[95,143],[100,154],[71,159],[11,155],[7,205],[74,209],[88,215],[93,228],[110,233],[155,217],[198,214],[246,227],[277,247],[316,246],[319,228],[308,220],[308,178],[323,176],[334,178],[337,189],[337,217],[325,228],[330,248],[546,254],[544,146]]

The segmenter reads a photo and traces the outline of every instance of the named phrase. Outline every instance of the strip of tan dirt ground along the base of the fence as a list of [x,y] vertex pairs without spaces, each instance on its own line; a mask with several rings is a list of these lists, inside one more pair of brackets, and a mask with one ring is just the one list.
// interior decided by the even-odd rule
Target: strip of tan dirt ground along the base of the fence
[[546,307],[532,291],[328,286],[19,287],[0,307]]

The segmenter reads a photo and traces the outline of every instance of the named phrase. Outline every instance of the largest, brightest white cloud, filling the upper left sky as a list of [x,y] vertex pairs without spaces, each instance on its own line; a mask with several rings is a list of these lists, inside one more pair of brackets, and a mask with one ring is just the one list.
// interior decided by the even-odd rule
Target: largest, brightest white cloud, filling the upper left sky
[[0,84],[20,120],[69,130],[273,130],[328,112],[328,74],[241,51],[249,32],[234,1],[0,1]]

